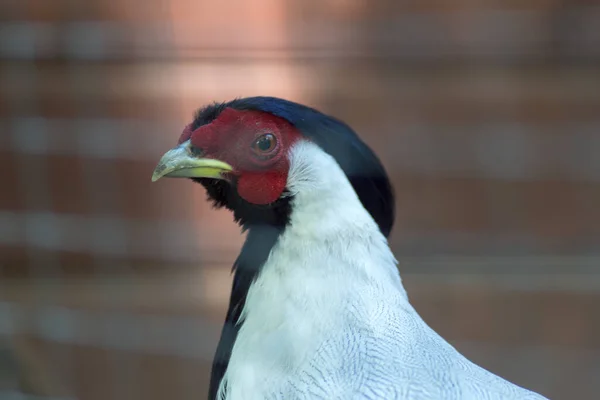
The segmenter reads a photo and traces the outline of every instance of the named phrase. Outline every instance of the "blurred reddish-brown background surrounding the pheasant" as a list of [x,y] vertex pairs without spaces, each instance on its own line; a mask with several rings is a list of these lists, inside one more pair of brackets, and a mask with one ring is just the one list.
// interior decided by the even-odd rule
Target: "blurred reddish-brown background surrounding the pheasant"
[[243,236],[150,176],[197,108],[250,95],[381,156],[442,336],[552,399],[600,393],[595,1],[9,0],[0,399],[205,398]]

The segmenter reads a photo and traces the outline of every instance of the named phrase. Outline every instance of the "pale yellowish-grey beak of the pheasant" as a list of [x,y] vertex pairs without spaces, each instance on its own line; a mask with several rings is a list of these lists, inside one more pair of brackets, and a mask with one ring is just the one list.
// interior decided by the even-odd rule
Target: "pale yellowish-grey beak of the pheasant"
[[223,161],[211,158],[198,158],[192,155],[189,142],[171,149],[158,162],[152,174],[152,182],[162,177],[168,178],[213,178],[224,179],[224,173],[233,167]]

